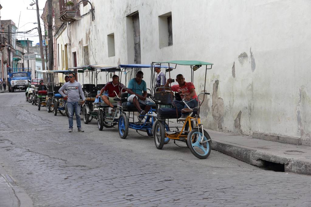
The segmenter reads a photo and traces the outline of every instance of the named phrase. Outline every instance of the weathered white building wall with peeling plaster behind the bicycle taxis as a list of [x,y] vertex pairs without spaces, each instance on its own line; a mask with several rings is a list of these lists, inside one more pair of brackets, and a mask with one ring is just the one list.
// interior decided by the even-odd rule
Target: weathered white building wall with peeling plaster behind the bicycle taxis
[[[252,134],[254,131],[311,139],[311,1],[309,0],[115,0],[91,1],[91,15],[68,28],[77,65],[83,46],[90,64],[133,63],[129,14],[138,11],[142,63],[201,60],[207,71],[207,97],[201,109],[207,128]],[[81,14],[90,6],[81,6]],[[172,12],[173,45],[159,47],[158,16]],[[127,24],[128,23],[128,24]],[[107,35],[114,33],[115,56],[108,57]],[[64,35],[63,35],[64,34]],[[62,34],[66,39],[67,31]],[[59,40],[57,40],[60,43]],[[66,44],[66,42],[64,42]],[[145,75],[148,81],[149,75]],[[188,67],[178,66],[190,79]],[[205,71],[195,71],[196,91]]]

